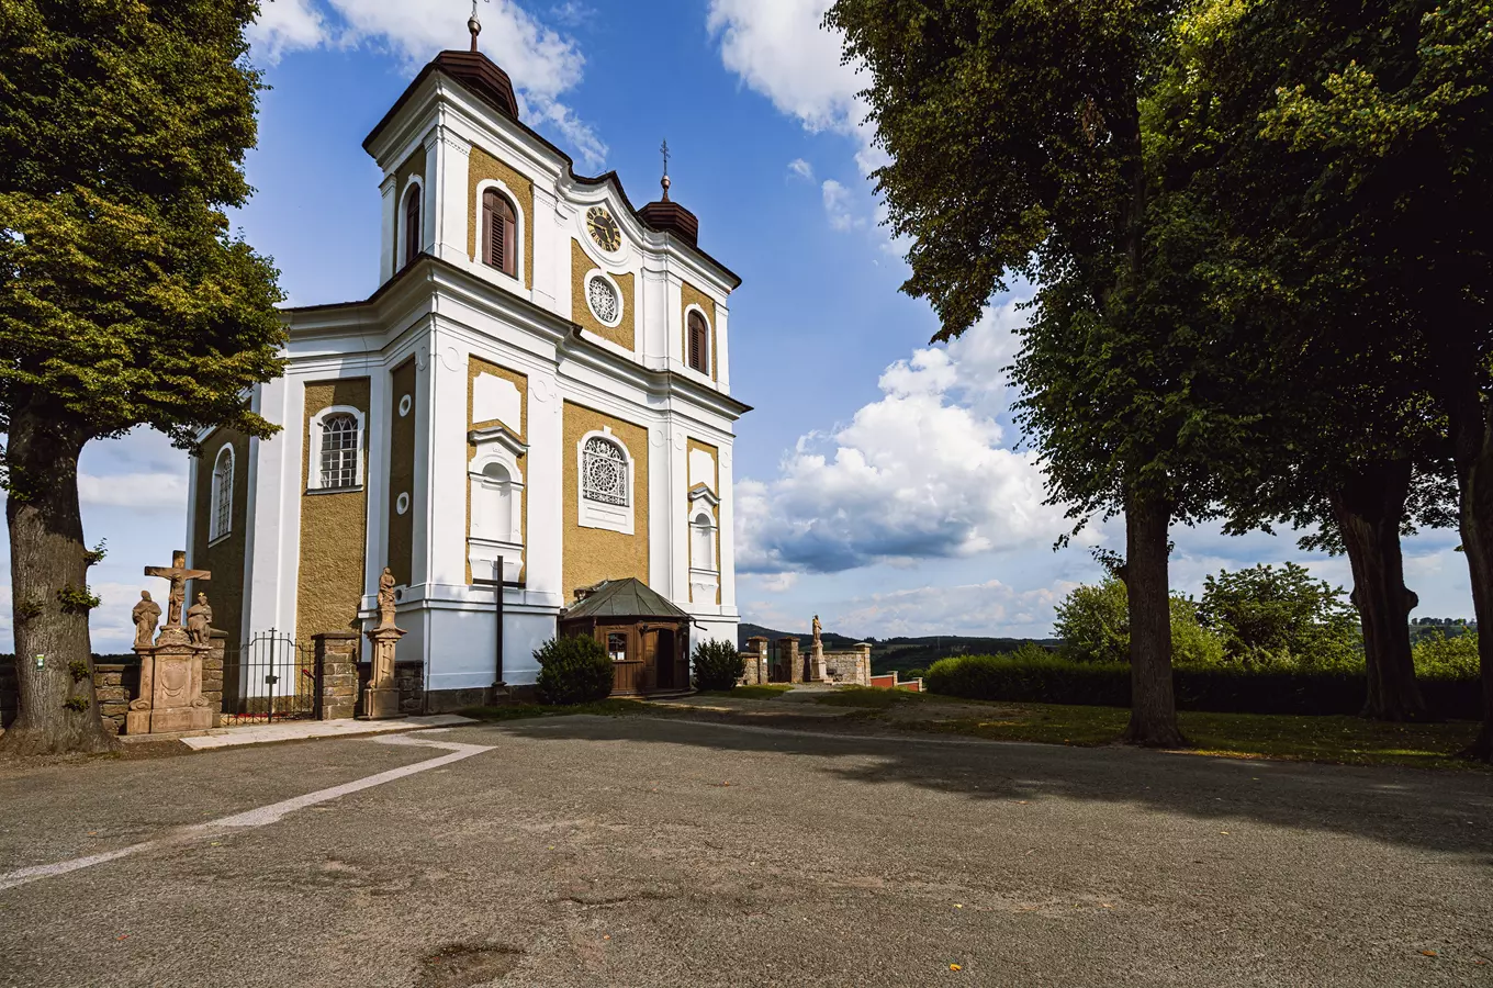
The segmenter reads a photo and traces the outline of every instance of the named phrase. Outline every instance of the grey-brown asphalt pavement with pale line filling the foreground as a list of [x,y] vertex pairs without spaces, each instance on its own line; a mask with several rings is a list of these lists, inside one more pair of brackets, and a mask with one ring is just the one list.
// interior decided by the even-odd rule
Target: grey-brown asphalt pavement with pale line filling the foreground
[[0,767],[0,985],[1493,985],[1490,775],[403,737]]

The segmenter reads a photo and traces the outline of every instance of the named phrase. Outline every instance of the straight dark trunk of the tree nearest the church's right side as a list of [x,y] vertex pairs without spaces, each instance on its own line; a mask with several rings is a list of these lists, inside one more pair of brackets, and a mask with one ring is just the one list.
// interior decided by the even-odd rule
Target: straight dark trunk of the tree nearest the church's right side
[[1130,725],[1124,742],[1184,745],[1172,688],[1172,601],[1166,573],[1171,509],[1163,498],[1126,491],[1126,591],[1130,598]]

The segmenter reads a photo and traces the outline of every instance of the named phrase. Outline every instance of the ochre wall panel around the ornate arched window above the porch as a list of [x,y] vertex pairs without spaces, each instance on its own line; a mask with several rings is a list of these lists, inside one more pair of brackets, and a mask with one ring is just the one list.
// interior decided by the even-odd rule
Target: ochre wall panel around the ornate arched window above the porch
[[[612,434],[633,457],[633,534],[582,528],[581,513],[581,437],[591,431],[611,427]],[[626,579],[636,576],[648,582],[648,430],[624,422],[603,412],[588,409],[573,401],[564,403],[564,540],[561,561],[561,587],[566,603],[575,600],[575,591],[603,579]]]

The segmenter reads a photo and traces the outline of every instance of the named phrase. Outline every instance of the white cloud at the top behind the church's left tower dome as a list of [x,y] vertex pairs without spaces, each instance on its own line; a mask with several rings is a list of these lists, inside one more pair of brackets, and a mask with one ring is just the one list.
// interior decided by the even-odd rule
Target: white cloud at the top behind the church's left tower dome
[[[466,48],[469,7],[463,0],[269,0],[249,30],[255,54],[273,63],[287,52],[321,46],[381,46],[418,66],[446,48]],[[573,22],[575,4],[555,16]],[[478,12],[482,51],[514,79],[530,124],[548,124],[585,161],[600,169],[606,143],[561,97],[579,85],[585,55],[576,42],[546,27],[514,0],[491,0]]]

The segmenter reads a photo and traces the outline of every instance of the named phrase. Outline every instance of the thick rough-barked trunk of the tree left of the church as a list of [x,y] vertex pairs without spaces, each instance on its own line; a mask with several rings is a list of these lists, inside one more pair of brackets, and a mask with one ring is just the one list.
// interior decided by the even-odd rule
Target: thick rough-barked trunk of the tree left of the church
[[93,684],[88,557],[78,507],[87,440],[63,416],[27,404],[10,418],[6,524],[21,709],[0,736],[19,755],[109,751]]

